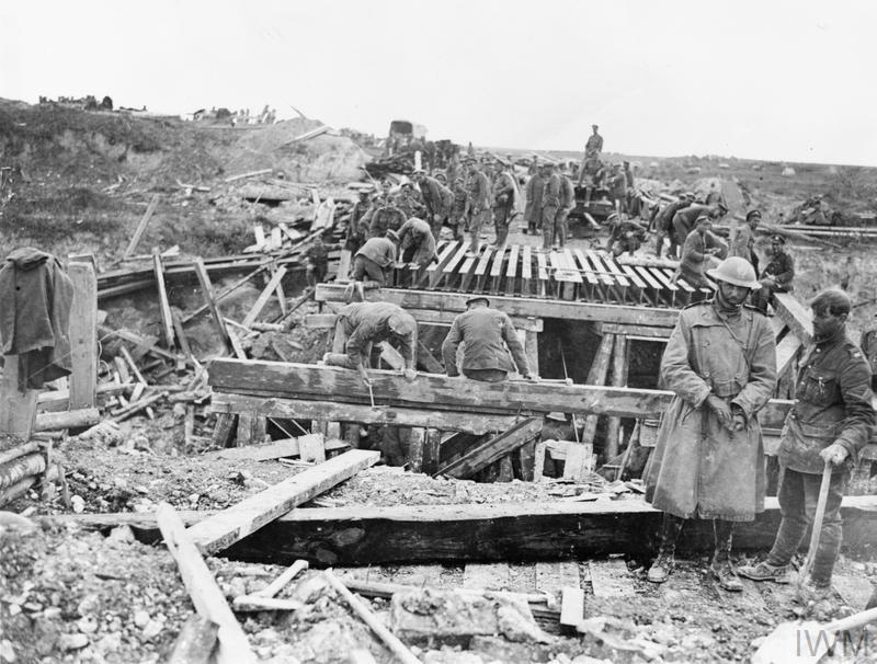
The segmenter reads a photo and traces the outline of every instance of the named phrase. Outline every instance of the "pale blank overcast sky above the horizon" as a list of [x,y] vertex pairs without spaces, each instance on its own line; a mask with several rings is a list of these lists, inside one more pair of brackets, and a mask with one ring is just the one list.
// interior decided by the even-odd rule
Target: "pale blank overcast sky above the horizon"
[[877,165],[869,0],[0,1],[0,96]]

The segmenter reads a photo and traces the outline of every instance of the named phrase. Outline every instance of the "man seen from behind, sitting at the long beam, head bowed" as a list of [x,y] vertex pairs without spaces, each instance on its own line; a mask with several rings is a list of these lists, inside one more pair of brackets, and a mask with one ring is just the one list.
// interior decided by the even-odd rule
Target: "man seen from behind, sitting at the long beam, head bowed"
[[442,344],[442,357],[448,376],[459,376],[457,347],[463,342],[463,375],[482,382],[502,382],[514,370],[509,359],[511,352],[517,371],[531,376],[524,346],[517,339],[514,324],[502,311],[490,308],[490,300],[474,295],[466,300],[466,311],[454,319],[451,332]]

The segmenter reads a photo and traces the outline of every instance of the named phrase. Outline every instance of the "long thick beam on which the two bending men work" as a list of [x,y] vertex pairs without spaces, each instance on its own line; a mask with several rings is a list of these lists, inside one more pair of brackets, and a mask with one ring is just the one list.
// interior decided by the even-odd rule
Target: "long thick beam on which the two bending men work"
[[[372,369],[368,376],[375,399],[385,404],[381,408],[401,413],[403,409],[425,410],[424,404],[430,404],[435,415],[431,424],[422,426],[447,431],[462,431],[455,430],[452,424],[453,419],[464,412],[490,415],[514,415],[520,412],[524,416],[560,411],[642,417],[663,412],[673,397],[673,392],[667,390],[528,380],[490,383],[431,374],[423,374],[410,381],[395,371],[380,369]],[[605,380],[605,369],[603,376]],[[363,385],[355,371],[342,367],[219,357],[210,365],[208,383],[214,388],[215,404],[223,399],[228,400],[228,393],[255,397],[253,403],[262,414],[267,414],[283,399],[329,399],[340,407],[338,416],[331,420],[358,421],[345,417],[344,409],[348,404],[372,403],[368,387]],[[223,392],[226,394],[220,396]],[[781,428],[790,403],[772,399],[760,413],[762,425]],[[448,416],[448,412],[454,415]]]

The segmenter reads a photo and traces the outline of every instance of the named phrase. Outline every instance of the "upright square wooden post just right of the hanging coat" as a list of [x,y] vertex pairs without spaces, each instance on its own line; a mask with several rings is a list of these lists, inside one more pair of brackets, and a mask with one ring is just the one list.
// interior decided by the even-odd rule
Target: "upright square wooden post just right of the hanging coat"
[[70,410],[93,408],[98,390],[98,277],[90,262],[68,265],[73,282],[70,309]]

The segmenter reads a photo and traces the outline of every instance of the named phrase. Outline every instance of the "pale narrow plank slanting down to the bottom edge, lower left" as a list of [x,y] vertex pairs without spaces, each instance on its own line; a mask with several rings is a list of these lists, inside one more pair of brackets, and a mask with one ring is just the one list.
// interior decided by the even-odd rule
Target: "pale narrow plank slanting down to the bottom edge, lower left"
[[216,584],[210,570],[195,548],[189,531],[176,511],[168,503],[161,503],[156,511],[161,535],[171,556],[176,561],[176,568],[183,584],[189,591],[192,604],[200,616],[219,626],[217,632],[218,648],[216,661],[219,664],[247,664],[255,663],[257,659],[250,650],[247,634],[243,633],[235,614],[226,603],[225,595]]

